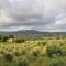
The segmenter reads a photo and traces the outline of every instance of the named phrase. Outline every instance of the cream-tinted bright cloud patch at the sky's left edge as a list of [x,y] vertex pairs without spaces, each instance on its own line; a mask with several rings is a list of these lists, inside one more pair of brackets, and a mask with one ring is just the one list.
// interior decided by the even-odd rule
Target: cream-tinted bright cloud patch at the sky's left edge
[[9,18],[8,12],[0,10],[0,26],[12,23],[12,18]]

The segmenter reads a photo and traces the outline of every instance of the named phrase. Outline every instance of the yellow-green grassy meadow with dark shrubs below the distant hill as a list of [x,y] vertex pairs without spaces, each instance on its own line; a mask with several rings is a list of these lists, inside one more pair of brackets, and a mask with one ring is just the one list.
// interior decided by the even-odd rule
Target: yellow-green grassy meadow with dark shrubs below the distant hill
[[9,38],[0,37],[0,66],[66,66],[66,37]]

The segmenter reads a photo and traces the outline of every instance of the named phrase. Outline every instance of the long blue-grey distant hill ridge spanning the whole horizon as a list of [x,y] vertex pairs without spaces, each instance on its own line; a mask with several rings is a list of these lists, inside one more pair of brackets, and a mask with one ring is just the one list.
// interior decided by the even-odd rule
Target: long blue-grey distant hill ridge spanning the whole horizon
[[35,30],[23,30],[23,31],[18,31],[18,32],[0,32],[0,35],[52,36],[52,35],[66,35],[66,32],[40,32]]

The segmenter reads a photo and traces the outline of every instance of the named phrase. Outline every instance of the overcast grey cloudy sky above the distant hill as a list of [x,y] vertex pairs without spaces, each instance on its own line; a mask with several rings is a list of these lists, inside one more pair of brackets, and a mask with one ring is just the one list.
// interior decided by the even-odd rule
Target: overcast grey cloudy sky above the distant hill
[[66,32],[66,0],[0,0],[0,31]]

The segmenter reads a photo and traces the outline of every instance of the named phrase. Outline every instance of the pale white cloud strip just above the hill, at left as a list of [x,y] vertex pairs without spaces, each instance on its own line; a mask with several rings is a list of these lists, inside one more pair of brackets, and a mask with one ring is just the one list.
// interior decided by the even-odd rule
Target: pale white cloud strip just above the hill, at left
[[4,32],[15,32],[21,30],[32,30],[33,26],[9,26],[9,28],[1,28],[0,31]]

